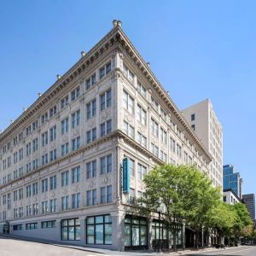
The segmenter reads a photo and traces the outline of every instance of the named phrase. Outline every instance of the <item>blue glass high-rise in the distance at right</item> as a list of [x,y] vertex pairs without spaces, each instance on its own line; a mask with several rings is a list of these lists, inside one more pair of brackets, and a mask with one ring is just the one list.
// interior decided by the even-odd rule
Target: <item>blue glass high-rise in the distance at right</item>
[[241,196],[242,179],[239,172],[235,172],[232,165],[223,166],[223,189],[232,189],[236,195],[242,199]]

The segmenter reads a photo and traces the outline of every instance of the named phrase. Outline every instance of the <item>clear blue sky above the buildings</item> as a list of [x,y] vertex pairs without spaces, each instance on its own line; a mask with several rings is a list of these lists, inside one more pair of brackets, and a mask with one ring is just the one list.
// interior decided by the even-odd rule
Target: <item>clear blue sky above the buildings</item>
[[211,99],[224,164],[241,173],[245,194],[256,193],[255,9],[229,0],[2,0],[0,129],[121,20],[178,108]]

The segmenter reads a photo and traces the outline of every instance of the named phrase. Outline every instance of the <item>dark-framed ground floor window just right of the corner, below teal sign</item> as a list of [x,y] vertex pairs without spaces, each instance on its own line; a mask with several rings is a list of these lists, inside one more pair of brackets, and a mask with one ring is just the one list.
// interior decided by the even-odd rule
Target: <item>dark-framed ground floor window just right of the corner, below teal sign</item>
[[148,247],[148,224],[146,218],[125,216],[125,249]]

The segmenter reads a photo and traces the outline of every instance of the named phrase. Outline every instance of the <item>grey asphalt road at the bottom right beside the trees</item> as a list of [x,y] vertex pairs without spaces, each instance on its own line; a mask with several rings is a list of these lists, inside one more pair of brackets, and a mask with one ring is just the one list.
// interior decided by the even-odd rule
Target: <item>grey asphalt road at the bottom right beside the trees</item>
[[228,250],[220,249],[210,253],[192,253],[189,255],[206,255],[206,256],[222,256],[222,255],[235,255],[235,256],[256,256],[256,246],[234,247]]

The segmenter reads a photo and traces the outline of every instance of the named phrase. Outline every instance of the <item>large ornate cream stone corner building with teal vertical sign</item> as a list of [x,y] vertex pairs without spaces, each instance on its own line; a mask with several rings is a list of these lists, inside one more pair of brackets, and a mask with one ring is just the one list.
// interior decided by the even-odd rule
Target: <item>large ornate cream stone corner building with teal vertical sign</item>
[[158,214],[134,211],[143,175],[164,162],[208,173],[212,156],[121,22],[57,78],[0,135],[0,231],[122,251],[160,230],[172,246]]

